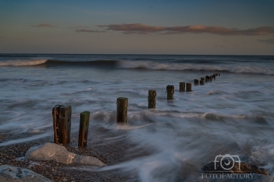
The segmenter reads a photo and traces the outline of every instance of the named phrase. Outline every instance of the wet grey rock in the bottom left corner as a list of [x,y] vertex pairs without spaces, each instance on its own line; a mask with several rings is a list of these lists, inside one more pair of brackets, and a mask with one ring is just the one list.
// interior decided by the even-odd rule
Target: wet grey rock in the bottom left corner
[[27,170],[25,168],[18,168],[10,165],[0,166],[0,182],[6,181],[51,181],[42,175],[33,172],[32,170]]

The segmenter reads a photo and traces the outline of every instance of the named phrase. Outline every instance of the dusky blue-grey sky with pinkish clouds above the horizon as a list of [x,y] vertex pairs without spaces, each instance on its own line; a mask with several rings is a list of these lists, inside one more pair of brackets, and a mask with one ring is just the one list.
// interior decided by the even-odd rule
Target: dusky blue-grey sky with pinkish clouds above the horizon
[[0,0],[0,53],[274,55],[274,1]]

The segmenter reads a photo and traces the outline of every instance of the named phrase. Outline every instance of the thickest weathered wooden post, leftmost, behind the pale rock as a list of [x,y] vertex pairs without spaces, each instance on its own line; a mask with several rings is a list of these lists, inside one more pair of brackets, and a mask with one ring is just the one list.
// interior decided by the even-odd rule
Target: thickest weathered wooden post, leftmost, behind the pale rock
[[71,142],[71,105],[55,105],[52,109],[54,143]]

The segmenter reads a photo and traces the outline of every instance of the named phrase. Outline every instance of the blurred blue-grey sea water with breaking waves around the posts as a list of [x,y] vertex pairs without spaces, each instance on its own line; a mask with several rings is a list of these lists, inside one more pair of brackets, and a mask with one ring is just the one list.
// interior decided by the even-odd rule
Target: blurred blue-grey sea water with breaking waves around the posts
[[[214,73],[220,76],[194,86]],[[0,54],[0,75],[0,133],[21,135],[0,146],[52,136],[51,109],[64,104],[73,108],[73,133],[88,110],[90,128],[115,136],[106,133],[103,142],[134,146],[126,161],[78,170],[182,181],[229,154],[274,177],[274,56]],[[182,81],[192,92],[179,92]],[[175,86],[172,101],[167,85]],[[156,109],[147,109],[149,90],[157,92]],[[123,127],[116,125],[120,96],[129,99]]]

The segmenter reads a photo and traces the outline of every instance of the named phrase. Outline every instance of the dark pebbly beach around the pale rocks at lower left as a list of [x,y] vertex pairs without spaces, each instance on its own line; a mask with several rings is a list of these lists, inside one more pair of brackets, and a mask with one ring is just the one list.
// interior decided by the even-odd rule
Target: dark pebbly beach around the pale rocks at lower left
[[[97,138],[93,138],[92,145],[87,148],[78,148],[77,133],[72,133],[71,144],[65,147],[72,153],[96,157],[108,166],[127,160],[127,157],[125,157],[127,148],[125,141],[103,144],[103,142],[100,141],[99,133],[92,132],[92,135],[98,136]],[[0,134],[0,142],[12,140],[13,138],[18,138],[18,136],[5,133]],[[25,156],[25,153],[30,147],[44,144],[45,142],[53,142],[53,138],[42,138],[32,142],[0,146],[0,165],[9,164],[27,168],[38,174],[42,174],[42,176],[51,179],[51,181],[127,181],[129,179],[134,181],[134,179],[136,179],[134,175],[129,177],[128,174],[123,175],[113,171],[90,172],[79,170],[79,166],[61,164],[57,161],[23,161],[16,159]],[[75,170],[74,167],[78,168],[78,170]]]

